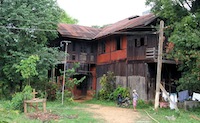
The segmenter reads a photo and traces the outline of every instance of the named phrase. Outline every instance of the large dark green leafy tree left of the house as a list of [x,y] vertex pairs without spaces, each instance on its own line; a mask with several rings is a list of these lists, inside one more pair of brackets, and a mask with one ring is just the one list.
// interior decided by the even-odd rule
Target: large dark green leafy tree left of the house
[[55,0],[0,0],[0,82],[9,90],[22,90],[24,79],[15,65],[32,55],[40,58],[34,81],[48,79],[48,70],[56,64],[59,52],[47,45],[57,37],[62,14]]

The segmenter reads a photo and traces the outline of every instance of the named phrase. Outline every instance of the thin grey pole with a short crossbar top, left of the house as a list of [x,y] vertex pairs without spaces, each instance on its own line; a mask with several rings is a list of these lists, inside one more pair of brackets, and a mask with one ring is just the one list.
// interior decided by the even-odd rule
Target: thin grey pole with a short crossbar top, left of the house
[[65,63],[64,63],[64,73],[63,73],[63,82],[62,82],[62,105],[63,105],[63,100],[64,100],[64,91],[65,91],[65,71],[66,71],[66,64],[67,64],[67,46],[71,41],[61,41],[60,45],[61,47],[64,46],[63,43],[65,43]]

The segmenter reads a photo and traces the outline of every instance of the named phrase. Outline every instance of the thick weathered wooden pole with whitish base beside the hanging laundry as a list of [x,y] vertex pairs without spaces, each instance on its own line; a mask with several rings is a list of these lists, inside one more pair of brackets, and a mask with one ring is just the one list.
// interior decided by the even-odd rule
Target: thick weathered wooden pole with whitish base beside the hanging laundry
[[160,81],[161,81],[161,70],[162,70],[162,52],[163,52],[163,29],[164,21],[160,21],[160,31],[159,31],[159,45],[158,45],[158,63],[157,63],[157,76],[156,76],[156,95],[155,95],[155,105],[154,108],[157,110],[159,106],[159,96],[160,96]]

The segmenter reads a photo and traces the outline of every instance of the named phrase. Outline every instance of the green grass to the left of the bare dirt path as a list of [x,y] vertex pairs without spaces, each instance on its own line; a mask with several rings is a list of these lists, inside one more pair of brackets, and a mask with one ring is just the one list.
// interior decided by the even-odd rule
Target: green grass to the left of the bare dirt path
[[[29,119],[24,113],[14,110],[4,109],[6,101],[0,101],[0,123],[42,123],[41,120]],[[85,112],[85,105],[80,103],[67,103],[62,105],[61,102],[47,102],[47,111],[57,114],[61,118],[59,120],[49,120],[48,123],[101,123],[101,119],[93,118],[92,114]]]

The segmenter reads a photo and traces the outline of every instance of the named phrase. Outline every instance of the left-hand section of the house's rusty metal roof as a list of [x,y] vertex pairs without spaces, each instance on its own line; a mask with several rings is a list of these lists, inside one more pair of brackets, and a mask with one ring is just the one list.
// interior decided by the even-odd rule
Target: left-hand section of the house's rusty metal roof
[[91,40],[100,31],[101,31],[101,29],[98,29],[98,28],[80,26],[80,25],[75,25],[75,24],[60,23],[58,25],[58,32],[63,37]]

